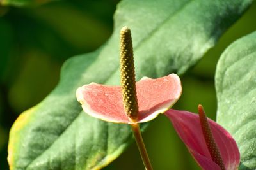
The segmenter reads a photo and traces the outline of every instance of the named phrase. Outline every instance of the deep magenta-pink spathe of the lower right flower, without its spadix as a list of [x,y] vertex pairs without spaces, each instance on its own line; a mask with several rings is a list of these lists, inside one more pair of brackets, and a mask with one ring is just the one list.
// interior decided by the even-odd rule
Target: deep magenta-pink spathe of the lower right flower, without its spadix
[[[200,167],[207,170],[212,168],[216,169],[214,166],[218,165],[211,159],[200,127],[198,115],[188,111],[178,110],[168,110],[164,114],[170,118],[175,130]],[[240,154],[236,141],[223,127],[221,127],[221,125],[209,118],[208,120],[214,139],[220,149],[225,168],[227,170],[237,169],[239,166]]]

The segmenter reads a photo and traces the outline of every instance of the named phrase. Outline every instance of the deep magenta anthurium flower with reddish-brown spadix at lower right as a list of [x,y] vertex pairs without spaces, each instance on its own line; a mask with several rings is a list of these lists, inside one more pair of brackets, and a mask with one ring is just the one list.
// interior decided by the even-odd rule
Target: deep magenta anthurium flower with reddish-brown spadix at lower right
[[239,166],[239,150],[232,136],[213,120],[205,116],[202,106],[198,114],[168,110],[175,130],[199,166],[205,170],[235,170]]

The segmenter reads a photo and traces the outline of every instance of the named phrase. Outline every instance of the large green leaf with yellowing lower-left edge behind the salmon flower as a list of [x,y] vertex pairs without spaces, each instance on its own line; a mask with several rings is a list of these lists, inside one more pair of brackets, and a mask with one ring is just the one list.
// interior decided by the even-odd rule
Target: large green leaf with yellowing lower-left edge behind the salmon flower
[[97,169],[131,142],[129,125],[89,117],[75,96],[77,87],[85,83],[119,83],[122,26],[132,30],[137,80],[182,74],[214,46],[250,3],[122,1],[109,41],[95,52],[67,60],[56,89],[13,125],[8,146],[11,169]]

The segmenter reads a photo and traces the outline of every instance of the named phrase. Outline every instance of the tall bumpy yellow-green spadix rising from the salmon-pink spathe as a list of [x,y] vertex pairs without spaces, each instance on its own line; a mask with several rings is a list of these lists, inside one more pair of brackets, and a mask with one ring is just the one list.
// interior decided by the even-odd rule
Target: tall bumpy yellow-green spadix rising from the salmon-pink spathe
[[125,112],[134,122],[138,117],[138,101],[135,87],[135,71],[131,30],[123,27],[120,31],[120,73]]

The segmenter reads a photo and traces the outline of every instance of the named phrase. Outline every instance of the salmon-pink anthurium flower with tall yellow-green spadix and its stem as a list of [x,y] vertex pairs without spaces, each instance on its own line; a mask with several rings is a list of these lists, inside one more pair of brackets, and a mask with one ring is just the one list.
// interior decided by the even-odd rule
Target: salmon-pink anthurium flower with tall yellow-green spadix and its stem
[[120,31],[120,80],[121,86],[90,83],[79,87],[77,100],[83,110],[93,117],[108,122],[131,124],[134,139],[145,169],[152,165],[140,132],[138,122],[147,122],[168,110],[182,92],[180,78],[170,74],[163,78],[144,77],[136,83],[131,30]]

